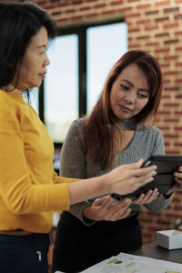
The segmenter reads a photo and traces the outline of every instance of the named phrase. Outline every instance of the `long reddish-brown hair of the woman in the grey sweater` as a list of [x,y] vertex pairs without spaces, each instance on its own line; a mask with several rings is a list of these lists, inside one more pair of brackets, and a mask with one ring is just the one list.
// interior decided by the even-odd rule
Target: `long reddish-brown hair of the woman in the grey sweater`
[[118,59],[110,70],[104,89],[90,116],[85,117],[83,130],[86,131],[86,157],[103,169],[112,167],[116,160],[116,132],[119,132],[117,118],[110,106],[110,91],[117,76],[126,66],[136,64],[147,76],[149,100],[136,116],[136,123],[145,124],[149,117],[157,114],[160,103],[163,76],[157,60],[147,52],[133,50]]

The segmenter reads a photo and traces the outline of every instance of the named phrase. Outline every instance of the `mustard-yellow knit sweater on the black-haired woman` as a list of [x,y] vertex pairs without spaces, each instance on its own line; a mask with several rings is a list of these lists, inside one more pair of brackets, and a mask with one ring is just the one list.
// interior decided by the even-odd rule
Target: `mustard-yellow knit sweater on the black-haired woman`
[[47,233],[52,211],[69,208],[66,183],[53,170],[54,146],[23,96],[0,90],[0,230]]

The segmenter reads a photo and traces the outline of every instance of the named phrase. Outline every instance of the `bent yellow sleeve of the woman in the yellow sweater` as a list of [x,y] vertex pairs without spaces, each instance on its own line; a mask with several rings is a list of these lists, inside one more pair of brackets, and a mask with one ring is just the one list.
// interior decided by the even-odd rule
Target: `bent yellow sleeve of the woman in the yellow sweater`
[[0,110],[0,196],[5,206],[15,215],[68,209],[66,183],[73,179],[60,177],[57,179],[59,184],[53,183],[51,175],[47,184],[35,180],[25,157],[28,143],[23,132],[25,128],[20,126],[17,109],[9,110],[9,107],[4,102]]

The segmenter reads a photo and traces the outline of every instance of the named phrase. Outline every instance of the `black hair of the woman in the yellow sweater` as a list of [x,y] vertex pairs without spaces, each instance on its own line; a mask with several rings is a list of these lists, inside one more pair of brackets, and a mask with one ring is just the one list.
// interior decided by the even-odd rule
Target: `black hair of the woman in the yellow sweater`
[[[19,72],[25,50],[42,26],[49,39],[56,36],[56,23],[33,3],[0,3],[0,87],[9,85]],[[18,83],[18,76],[17,82]]]

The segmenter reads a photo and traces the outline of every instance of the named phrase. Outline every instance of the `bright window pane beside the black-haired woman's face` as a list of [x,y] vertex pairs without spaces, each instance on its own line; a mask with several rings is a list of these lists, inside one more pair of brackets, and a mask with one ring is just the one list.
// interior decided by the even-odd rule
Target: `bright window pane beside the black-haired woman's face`
[[63,142],[78,117],[77,35],[56,38],[48,49],[45,77],[45,126],[55,142]]

